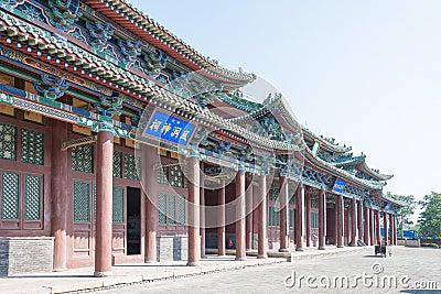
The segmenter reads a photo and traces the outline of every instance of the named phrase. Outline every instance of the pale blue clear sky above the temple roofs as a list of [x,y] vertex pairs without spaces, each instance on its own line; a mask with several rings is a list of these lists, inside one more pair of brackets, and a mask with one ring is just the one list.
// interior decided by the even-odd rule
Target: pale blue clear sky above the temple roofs
[[441,1],[132,1],[225,67],[271,81],[300,123],[441,192]]

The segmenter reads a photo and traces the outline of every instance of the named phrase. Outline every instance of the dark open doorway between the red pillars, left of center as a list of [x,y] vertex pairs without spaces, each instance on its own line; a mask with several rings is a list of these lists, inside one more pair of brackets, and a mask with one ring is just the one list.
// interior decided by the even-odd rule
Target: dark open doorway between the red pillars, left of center
[[141,190],[127,187],[127,254],[141,254]]

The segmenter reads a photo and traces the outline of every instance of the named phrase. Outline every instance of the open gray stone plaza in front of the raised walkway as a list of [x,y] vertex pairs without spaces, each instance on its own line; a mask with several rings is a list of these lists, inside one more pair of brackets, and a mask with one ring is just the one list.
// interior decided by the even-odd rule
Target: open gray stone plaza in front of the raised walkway
[[[441,293],[441,249],[396,247],[392,255],[387,258],[366,252],[294,260],[291,263],[152,282],[99,293]],[[292,287],[287,286],[284,280],[293,273],[297,283]],[[357,279],[357,275],[362,277]],[[345,277],[348,279],[348,287],[340,286]],[[311,286],[306,279],[310,279]],[[292,281],[287,280],[288,283]],[[357,286],[353,287],[355,281]],[[397,281],[397,288],[394,281]],[[424,286],[427,282],[434,282],[429,286],[438,290],[417,288],[417,283]],[[327,283],[331,287],[324,287]]]

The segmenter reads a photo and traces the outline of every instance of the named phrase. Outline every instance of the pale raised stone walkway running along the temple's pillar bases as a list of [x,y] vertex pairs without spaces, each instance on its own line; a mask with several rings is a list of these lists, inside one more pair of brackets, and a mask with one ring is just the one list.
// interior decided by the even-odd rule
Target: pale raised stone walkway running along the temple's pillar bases
[[[208,255],[201,260],[200,266],[186,266],[185,261],[161,262],[153,264],[123,264],[112,268],[111,277],[94,277],[94,269],[75,269],[64,272],[52,272],[45,274],[17,275],[0,279],[0,293],[65,293],[108,290],[120,286],[144,284],[163,280],[195,276],[208,273],[218,273],[239,269],[262,268],[259,265],[294,263],[300,260],[314,258],[326,258],[335,254],[349,254],[354,251],[373,251],[372,247],[365,248],[340,248],[329,247],[326,250],[306,249],[303,252],[273,252],[270,251],[268,259],[248,257],[246,261],[235,261],[234,257]],[[254,252],[249,252],[251,255]],[[276,257],[276,258],[271,258]]]

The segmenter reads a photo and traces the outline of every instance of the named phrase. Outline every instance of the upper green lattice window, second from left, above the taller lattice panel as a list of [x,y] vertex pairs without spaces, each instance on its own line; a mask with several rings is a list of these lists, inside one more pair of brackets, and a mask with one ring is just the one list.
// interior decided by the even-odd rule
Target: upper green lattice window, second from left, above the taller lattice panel
[[44,134],[26,129],[21,130],[21,161],[44,164]]

